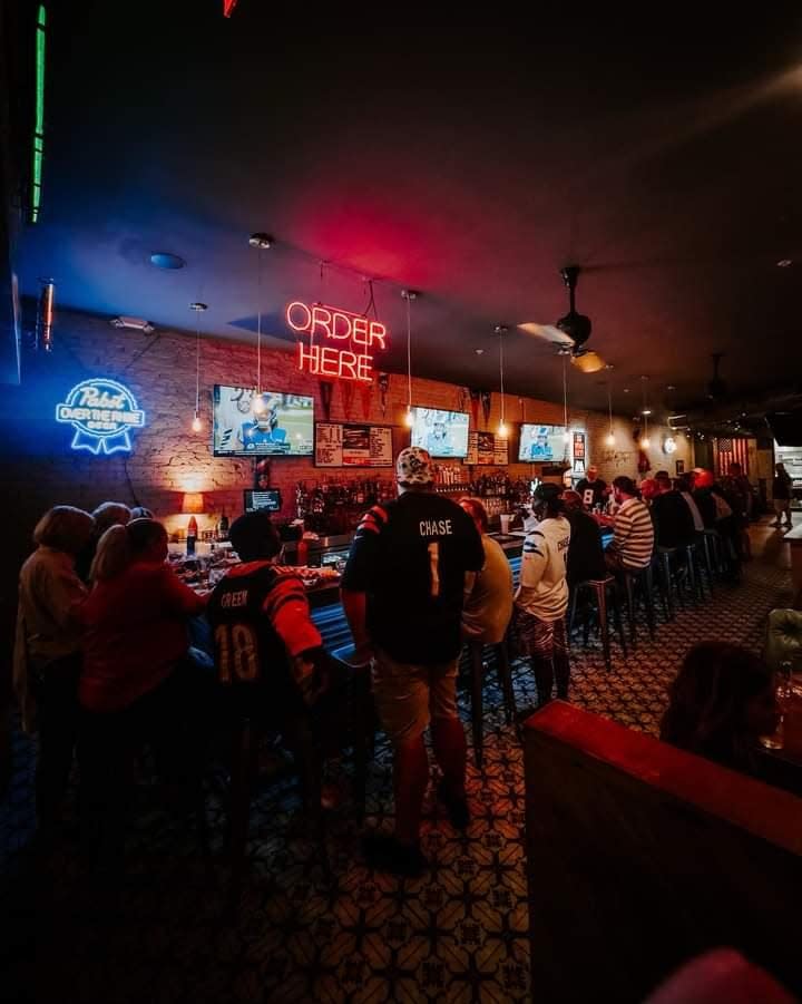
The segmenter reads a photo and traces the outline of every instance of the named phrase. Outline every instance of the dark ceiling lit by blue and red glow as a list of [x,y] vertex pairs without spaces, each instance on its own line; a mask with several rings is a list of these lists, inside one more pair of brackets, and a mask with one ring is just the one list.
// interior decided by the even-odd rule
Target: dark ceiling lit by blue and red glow
[[[481,28],[375,25],[355,9],[336,26],[312,9],[282,25],[262,0],[224,20],[222,6],[56,9],[25,292],[48,274],[63,306],[187,329],[200,299],[205,330],[253,340],[247,235],[267,231],[272,335],[288,338],[288,299],[362,311],[374,276],[394,333],[387,368],[405,365],[411,286],[413,371],[497,388],[493,325],[554,322],[558,270],[575,262],[616,407],[632,408],[640,374],[654,403],[704,399],[714,351],[735,396],[795,382],[796,4],[761,18],[717,4],[726,14],[707,22],[704,4],[640,20],[537,6],[529,25]],[[186,269],[155,269],[154,251]],[[506,344],[508,389],[559,399],[551,350],[518,332]],[[606,407],[603,380],[571,369],[571,401]]]

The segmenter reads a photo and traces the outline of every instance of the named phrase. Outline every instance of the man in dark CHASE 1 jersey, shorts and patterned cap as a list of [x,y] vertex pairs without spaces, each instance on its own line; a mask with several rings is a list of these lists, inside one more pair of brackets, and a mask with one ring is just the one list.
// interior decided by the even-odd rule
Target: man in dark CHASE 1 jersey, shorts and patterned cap
[[464,790],[466,739],[457,714],[457,665],[467,572],[485,553],[473,520],[436,495],[429,454],[398,456],[399,497],[373,506],[356,530],[342,581],[355,660],[373,664],[379,714],[393,743],[395,834],[365,839],[368,862],[382,871],[420,875],[420,818],[429,784],[423,733],[443,778],[438,797],[452,826],[470,821]]

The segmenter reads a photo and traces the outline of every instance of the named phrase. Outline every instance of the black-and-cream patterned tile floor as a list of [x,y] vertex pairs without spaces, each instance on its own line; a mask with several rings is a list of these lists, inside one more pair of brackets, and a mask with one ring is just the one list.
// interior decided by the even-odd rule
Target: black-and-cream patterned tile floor
[[[655,733],[665,691],[686,650],[703,639],[759,650],[765,615],[790,598],[781,538],[756,528],[763,556],[743,584],[661,623],[614,667],[600,650],[574,649],[571,700]],[[535,700],[526,666],[520,708]],[[348,805],[332,820],[333,879],[322,881],[292,786],[256,800],[251,873],[238,925],[223,918],[223,813],[209,798],[209,846],[164,811],[145,807],[127,848],[119,912],[99,919],[75,845],[32,865],[32,747],[14,738],[14,774],[0,806],[1,901],[7,914],[0,997],[41,1002],[506,1002],[538,1001],[529,983],[522,845],[522,764],[500,694],[486,688],[486,763],[471,767],[473,821],[466,835],[428,805],[418,880],[371,874],[360,861]],[[471,761],[472,762],[472,761]],[[380,743],[369,778],[368,823],[389,825],[390,758]],[[0,956],[1,957],[1,956]]]

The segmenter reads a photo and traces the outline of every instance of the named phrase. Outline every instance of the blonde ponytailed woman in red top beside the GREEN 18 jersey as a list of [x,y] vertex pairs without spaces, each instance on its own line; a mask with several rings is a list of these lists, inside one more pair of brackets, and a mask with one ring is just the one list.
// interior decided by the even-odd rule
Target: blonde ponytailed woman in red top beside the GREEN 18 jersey
[[141,737],[155,741],[174,770],[192,756],[182,728],[194,700],[190,674],[183,672],[187,621],[206,600],[166,559],[167,532],[155,519],[110,527],[98,544],[95,588],[81,610],[81,783],[87,808],[111,825],[121,822],[126,759]]

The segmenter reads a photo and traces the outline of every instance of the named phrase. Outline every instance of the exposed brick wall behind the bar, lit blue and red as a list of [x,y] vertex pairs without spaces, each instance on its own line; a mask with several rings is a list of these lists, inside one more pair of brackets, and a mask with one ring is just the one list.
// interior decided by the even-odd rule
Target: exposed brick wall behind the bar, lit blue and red
[[[242,507],[242,489],[252,485],[252,462],[212,457],[211,454],[211,397],[215,383],[253,384],[255,379],[255,352],[244,345],[218,339],[204,338],[202,348],[202,417],[204,431],[193,433],[190,421],[195,403],[195,343],[184,334],[163,332],[157,337],[137,332],[118,331],[102,318],[61,311],[55,333],[55,352],[51,357],[38,357],[29,364],[20,390],[10,389],[3,394],[3,406],[14,407],[16,394],[40,393],[38,380],[58,380],[61,373],[75,373],[77,380],[90,376],[116,377],[130,387],[140,408],[147,413],[147,426],[134,433],[134,450],[127,460],[121,455],[95,457],[85,452],[63,450],[48,454],[41,447],[36,454],[25,447],[0,443],[3,457],[3,488],[7,494],[6,559],[0,602],[4,607],[3,622],[8,624],[9,610],[14,605],[16,572],[30,550],[30,535],[38,517],[59,503],[92,509],[106,499],[133,504],[136,497],[165,519],[168,529],[175,529],[180,518],[182,494],[203,491],[209,515],[200,519],[200,528],[213,525],[221,509],[236,515]],[[30,362],[30,361],[29,361]],[[45,376],[43,376],[45,374]],[[62,379],[61,393],[69,390],[70,377]],[[316,418],[323,418],[315,378],[300,373],[291,351],[263,352],[263,384],[291,393],[314,394]],[[460,407],[458,389],[434,380],[413,380],[413,401],[438,408],[457,410]],[[48,413],[51,402],[46,400]],[[353,421],[370,420],[397,426],[397,447],[408,441],[402,418],[407,404],[407,381],[403,376],[390,379],[387,413],[382,415],[379,392],[374,389],[369,415],[363,411],[359,390],[353,393],[350,418]],[[489,421],[479,416],[479,428],[496,428],[499,422],[499,397],[493,394]],[[464,407],[464,406],[462,406]],[[470,408],[468,408],[470,410]],[[506,398],[506,417],[510,422],[521,420],[560,425],[563,407],[534,399]],[[332,420],[345,420],[343,398],[335,388],[331,408]],[[616,474],[635,474],[636,454],[632,443],[632,422],[616,420],[618,442],[615,450],[604,445],[608,431],[607,417],[599,413],[571,412],[571,425],[588,430],[590,458],[599,464],[606,478]],[[659,439],[658,430],[653,437]],[[657,449],[652,450],[657,457]],[[676,458],[689,464],[687,450]],[[657,462],[656,459],[654,461]],[[657,466],[663,466],[662,461]],[[127,468],[127,474],[126,474]],[[482,468],[486,471],[487,468]],[[276,459],[272,465],[273,484],[283,489],[285,514],[290,515],[293,489],[299,480],[317,480],[323,471],[311,459]],[[526,477],[532,467],[511,464],[510,477]],[[327,469],[326,476],[349,478],[365,474],[348,469]],[[385,476],[389,472],[385,472]]]

